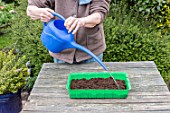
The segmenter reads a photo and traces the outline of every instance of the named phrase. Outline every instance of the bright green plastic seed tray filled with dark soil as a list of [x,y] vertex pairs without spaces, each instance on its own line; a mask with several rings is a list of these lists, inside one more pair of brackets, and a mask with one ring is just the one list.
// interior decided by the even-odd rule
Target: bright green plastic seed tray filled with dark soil
[[70,98],[127,98],[131,85],[125,72],[78,72],[66,88]]

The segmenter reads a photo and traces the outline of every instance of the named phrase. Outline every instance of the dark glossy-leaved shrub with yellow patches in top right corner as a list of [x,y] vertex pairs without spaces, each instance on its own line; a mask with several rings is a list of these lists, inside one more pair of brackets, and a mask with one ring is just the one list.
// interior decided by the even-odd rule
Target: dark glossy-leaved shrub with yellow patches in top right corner
[[[119,4],[116,0],[115,4]],[[169,0],[123,0],[128,4],[128,11],[133,10],[143,15],[144,19],[154,19],[157,21],[156,27],[160,35],[170,31],[170,1]],[[123,4],[123,6],[124,6]]]

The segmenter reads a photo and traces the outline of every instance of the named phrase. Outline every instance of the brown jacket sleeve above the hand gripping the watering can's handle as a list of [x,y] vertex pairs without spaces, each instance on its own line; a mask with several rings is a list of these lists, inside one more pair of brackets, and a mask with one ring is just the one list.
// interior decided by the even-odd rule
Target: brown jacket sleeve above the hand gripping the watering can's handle
[[55,0],[28,0],[28,6],[34,5],[39,8],[51,8],[54,9]]

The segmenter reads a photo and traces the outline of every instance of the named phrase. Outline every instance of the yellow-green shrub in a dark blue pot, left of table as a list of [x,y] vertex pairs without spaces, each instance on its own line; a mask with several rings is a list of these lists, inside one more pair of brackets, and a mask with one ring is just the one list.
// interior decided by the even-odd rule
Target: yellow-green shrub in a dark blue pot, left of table
[[21,89],[26,84],[26,57],[17,57],[14,50],[0,51],[0,112],[19,113],[22,109]]

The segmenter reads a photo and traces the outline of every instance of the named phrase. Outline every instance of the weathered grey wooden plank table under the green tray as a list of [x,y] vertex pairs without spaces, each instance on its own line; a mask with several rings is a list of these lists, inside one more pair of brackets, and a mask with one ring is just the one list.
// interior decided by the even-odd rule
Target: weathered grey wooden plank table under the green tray
[[71,72],[103,71],[97,63],[45,63],[22,113],[170,113],[170,92],[156,65],[145,62],[105,62],[110,71],[126,72],[132,89],[127,99],[70,99]]

